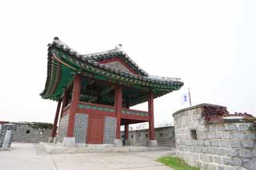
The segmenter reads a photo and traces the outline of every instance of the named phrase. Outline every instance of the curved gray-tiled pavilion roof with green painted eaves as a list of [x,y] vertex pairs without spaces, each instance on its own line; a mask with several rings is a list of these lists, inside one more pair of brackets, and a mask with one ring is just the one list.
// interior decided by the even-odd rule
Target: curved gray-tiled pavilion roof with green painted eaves
[[[114,69],[102,63],[111,58],[121,59],[129,66],[131,72]],[[178,78],[149,75],[122,50],[120,45],[102,53],[81,55],[58,38],[54,38],[54,42],[48,45],[47,78],[45,89],[40,94],[42,98],[58,101],[63,96],[64,89],[71,85],[76,73],[134,89],[153,90],[154,97],[178,90],[183,85]],[[143,101],[146,101],[146,98],[137,103]]]

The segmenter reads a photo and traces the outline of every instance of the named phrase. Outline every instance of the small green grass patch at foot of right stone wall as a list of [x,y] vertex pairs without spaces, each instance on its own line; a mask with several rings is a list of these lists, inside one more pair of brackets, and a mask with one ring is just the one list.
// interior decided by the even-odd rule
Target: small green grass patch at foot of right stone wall
[[160,157],[158,162],[161,162],[170,168],[174,168],[174,170],[199,170],[199,168],[191,167],[190,165],[186,164],[184,160],[173,156]]

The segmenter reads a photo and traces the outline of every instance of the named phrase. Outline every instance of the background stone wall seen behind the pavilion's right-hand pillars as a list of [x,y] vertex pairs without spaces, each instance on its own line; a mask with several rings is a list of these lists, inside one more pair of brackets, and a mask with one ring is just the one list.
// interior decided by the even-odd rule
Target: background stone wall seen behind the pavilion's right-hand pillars
[[[158,140],[158,146],[175,147],[174,126],[154,128],[155,139]],[[149,138],[149,130],[129,131],[129,144],[135,146],[145,146]],[[124,139],[124,132],[122,132]]]

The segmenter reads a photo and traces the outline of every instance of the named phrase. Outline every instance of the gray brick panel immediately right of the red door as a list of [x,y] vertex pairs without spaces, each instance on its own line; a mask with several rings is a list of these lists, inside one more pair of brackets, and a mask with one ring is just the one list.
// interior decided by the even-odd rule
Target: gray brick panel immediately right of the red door
[[103,144],[114,144],[116,118],[105,117]]

